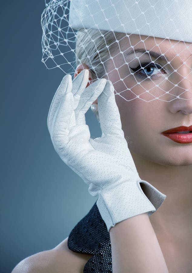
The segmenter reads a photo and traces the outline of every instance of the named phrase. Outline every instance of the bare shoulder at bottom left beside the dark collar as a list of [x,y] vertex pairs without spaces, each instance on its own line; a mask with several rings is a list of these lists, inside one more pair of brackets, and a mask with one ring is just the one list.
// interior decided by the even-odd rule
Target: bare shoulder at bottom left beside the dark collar
[[25,258],[12,273],[82,273],[92,255],[71,251],[67,242],[68,237],[51,250]]

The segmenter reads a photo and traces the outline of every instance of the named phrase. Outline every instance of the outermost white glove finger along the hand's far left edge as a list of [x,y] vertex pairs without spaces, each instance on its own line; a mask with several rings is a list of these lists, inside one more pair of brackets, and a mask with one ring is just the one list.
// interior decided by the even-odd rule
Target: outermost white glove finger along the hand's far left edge
[[61,99],[63,98],[63,96],[65,95],[66,91],[67,90],[71,91],[71,89],[72,89],[71,75],[67,74],[62,79],[57,91],[55,92],[55,95],[54,95],[52,102],[51,102],[51,106],[49,108],[49,113],[48,113],[48,117],[47,117],[47,126],[48,126],[49,133],[51,132],[53,119],[54,119],[55,113],[58,109],[59,103],[60,103]]

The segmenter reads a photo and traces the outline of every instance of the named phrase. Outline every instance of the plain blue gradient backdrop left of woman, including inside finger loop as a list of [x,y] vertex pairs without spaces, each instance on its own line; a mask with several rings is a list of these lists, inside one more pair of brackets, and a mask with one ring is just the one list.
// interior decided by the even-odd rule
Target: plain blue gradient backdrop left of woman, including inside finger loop
[[[2,1],[0,272],[54,248],[97,197],[56,153],[47,128],[52,98],[64,76],[41,62],[44,0]],[[91,136],[101,135],[89,109]]]

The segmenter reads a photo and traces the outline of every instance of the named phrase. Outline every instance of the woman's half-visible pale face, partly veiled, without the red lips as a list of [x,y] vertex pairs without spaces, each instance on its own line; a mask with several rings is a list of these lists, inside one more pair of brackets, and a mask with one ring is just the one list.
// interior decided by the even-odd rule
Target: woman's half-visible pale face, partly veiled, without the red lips
[[162,165],[191,165],[192,143],[177,143],[161,133],[192,125],[192,44],[130,35],[119,45],[121,52],[105,63],[105,78],[119,93],[115,99],[129,150]]

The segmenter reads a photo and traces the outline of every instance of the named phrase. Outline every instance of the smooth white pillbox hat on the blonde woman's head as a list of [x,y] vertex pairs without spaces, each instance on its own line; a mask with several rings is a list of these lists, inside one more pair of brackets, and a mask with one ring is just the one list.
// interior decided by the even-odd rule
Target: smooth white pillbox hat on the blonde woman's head
[[100,29],[192,42],[190,0],[71,0],[73,29]]

